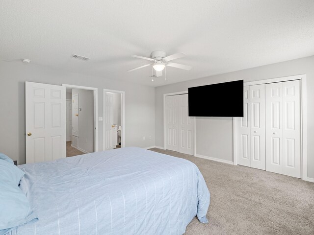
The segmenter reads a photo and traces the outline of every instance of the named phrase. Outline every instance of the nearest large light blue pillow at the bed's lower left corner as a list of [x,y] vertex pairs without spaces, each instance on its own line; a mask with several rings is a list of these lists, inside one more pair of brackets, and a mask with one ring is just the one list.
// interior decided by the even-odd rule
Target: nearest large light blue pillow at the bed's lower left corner
[[23,191],[13,183],[0,181],[0,235],[28,222],[37,221]]

